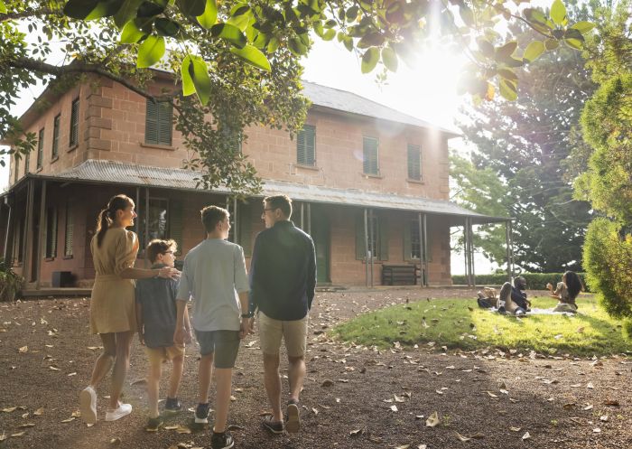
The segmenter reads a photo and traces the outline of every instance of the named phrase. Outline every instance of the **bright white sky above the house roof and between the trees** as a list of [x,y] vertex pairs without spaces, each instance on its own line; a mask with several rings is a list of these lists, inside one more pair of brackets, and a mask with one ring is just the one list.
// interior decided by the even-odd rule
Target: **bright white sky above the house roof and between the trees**
[[[58,53],[56,59],[61,61],[62,55]],[[460,67],[464,62],[462,55],[431,49],[419,55],[414,67],[399,61],[398,70],[389,72],[386,82],[379,84],[376,82],[379,70],[362,74],[358,56],[335,40],[323,42],[316,39],[309,56],[302,61],[304,80],[348,90],[437,126],[455,130],[458,128],[454,118],[458,116],[462,102],[467,100],[456,92]],[[13,108],[14,115],[22,115],[41,92],[42,86],[24,89],[20,101]],[[452,139],[451,147],[460,152],[468,151],[460,139]],[[8,164],[0,167],[0,189],[4,190],[6,185]],[[491,269],[482,256],[476,257],[475,264],[479,273],[487,273]],[[453,252],[452,274],[462,274],[463,271],[463,257]]]

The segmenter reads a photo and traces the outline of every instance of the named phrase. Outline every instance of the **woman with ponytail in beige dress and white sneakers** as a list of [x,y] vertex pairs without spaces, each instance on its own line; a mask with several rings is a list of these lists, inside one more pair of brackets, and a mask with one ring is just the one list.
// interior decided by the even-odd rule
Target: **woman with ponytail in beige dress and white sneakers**
[[125,229],[134,225],[134,207],[134,201],[125,195],[112,197],[107,208],[98,214],[97,229],[90,242],[96,271],[90,298],[90,330],[101,337],[103,352],[92,369],[90,385],[79,394],[81,417],[88,424],[97,421],[95,388],[113,367],[106,421],[115,421],[132,411],[130,404],[123,404],[118,399],[129,368],[129,352],[136,332],[133,279],[180,275],[172,267],[134,267],[138,238],[134,232]]

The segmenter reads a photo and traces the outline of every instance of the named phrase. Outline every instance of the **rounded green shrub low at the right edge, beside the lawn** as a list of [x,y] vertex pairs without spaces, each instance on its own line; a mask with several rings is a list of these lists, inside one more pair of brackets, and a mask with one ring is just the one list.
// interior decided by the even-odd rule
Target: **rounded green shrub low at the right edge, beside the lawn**
[[598,292],[606,311],[617,318],[632,318],[632,235],[622,236],[620,230],[617,222],[593,220],[586,231],[583,266],[588,285]]

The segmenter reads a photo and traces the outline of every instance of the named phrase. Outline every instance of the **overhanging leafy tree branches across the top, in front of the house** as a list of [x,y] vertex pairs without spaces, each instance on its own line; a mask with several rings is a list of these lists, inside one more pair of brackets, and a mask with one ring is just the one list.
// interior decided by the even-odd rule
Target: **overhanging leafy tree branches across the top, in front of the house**
[[[307,101],[301,96],[299,58],[310,50],[311,32],[358,51],[368,73],[378,64],[396,70],[400,58],[409,58],[440,30],[471,59],[463,91],[475,98],[493,98],[499,91],[511,99],[517,68],[560,43],[581,48],[592,28],[570,23],[561,0],[553,0],[548,15],[521,1],[516,5],[504,0],[0,0],[0,136],[13,139],[14,150],[33,148],[34,136],[23,137],[10,114],[16,88],[53,79],[61,86],[95,74],[146,98],[172,102],[176,126],[196,154],[190,166],[202,171],[207,187],[223,182],[232,190],[256,191],[254,168],[231,142],[246,137],[246,126],[295,132],[302,125]],[[528,23],[538,39],[516,52],[516,42],[503,41],[494,31],[499,21]],[[47,61],[51,42],[62,42],[68,55],[60,65]],[[155,95],[145,89],[149,69],[157,64],[181,81],[180,90]],[[227,129],[233,138],[222,138]]]

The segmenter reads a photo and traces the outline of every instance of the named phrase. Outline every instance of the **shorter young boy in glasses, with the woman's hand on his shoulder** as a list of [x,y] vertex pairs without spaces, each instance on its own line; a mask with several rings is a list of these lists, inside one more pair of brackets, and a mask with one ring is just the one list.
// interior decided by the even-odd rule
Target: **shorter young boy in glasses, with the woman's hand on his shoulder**
[[[173,240],[152,240],[147,246],[147,256],[153,268],[173,267],[176,243]],[[189,314],[183,311],[184,340],[179,344],[173,342],[177,310],[176,295],[178,281],[153,277],[136,281],[136,321],[138,336],[145,346],[149,360],[149,376],[147,379],[147,395],[149,397],[149,422],[145,429],[150,432],[158,430],[163,418],[158,412],[158,389],[162,374],[162,364],[172,360],[172,377],[169,382],[166,413],[181,410],[178,400],[178,388],[184,368],[184,341],[191,342],[191,325]]]

